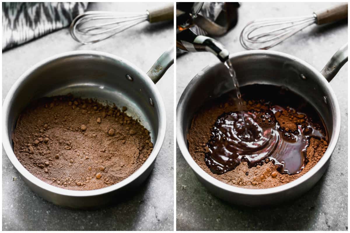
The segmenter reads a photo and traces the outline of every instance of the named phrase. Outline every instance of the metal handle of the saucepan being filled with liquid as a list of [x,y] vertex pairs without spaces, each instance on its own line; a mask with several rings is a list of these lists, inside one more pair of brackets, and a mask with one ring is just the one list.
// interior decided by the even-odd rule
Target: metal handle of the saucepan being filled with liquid
[[348,61],[348,43],[343,45],[323,67],[321,74],[330,82],[340,68]]

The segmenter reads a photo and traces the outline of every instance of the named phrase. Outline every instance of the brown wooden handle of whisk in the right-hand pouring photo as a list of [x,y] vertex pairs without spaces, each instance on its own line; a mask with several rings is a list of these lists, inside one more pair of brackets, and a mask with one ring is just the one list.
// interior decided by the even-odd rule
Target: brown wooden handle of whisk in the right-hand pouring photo
[[348,3],[314,12],[317,24],[331,23],[348,18]]

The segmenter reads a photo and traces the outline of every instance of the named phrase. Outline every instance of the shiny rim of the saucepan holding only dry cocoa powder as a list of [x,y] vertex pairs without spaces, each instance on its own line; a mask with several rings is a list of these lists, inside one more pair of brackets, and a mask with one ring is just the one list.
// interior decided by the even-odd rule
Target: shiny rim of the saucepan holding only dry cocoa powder
[[[52,61],[55,61],[57,59],[62,58],[68,58],[68,57],[74,57],[74,56],[82,56],[82,55],[91,55],[91,56],[102,56],[105,58],[110,58],[114,60],[118,60],[121,63],[125,64],[130,69],[137,71],[140,74],[140,78],[144,79],[144,81],[147,82],[148,86],[150,87],[150,90],[152,94],[154,95],[154,98],[156,98],[156,102],[158,103],[158,106],[155,106],[155,108],[158,108],[159,111],[159,126],[158,126],[158,135],[155,141],[155,145],[153,147],[153,150],[147,160],[142,164],[142,166],[137,169],[133,174],[128,176],[123,181],[120,181],[119,183],[110,185],[105,188],[101,189],[94,189],[94,190],[69,190],[69,189],[63,189],[55,187],[51,184],[48,184],[40,179],[38,179],[36,176],[31,174],[23,165],[19,162],[19,160],[16,158],[12,146],[11,146],[11,136],[8,135],[8,123],[7,123],[7,116],[9,113],[9,107],[11,99],[13,98],[15,91],[18,89],[18,87],[21,85],[23,81],[35,70],[38,68],[41,68]],[[103,61],[102,61],[103,62]],[[6,95],[5,101],[2,105],[2,144],[5,149],[6,155],[13,164],[13,166],[18,170],[18,172],[21,174],[21,176],[25,177],[29,182],[37,185],[38,187],[47,190],[49,192],[58,194],[58,195],[64,195],[64,196],[72,196],[72,197],[86,197],[86,196],[97,196],[106,194],[112,191],[115,191],[117,189],[120,189],[122,187],[125,187],[127,184],[133,182],[135,179],[137,179],[139,176],[141,176],[149,166],[152,165],[154,160],[156,159],[160,148],[163,144],[164,138],[165,138],[165,131],[166,131],[166,113],[165,113],[165,105],[162,100],[162,97],[156,88],[155,84],[152,82],[152,80],[146,75],[146,72],[142,71],[140,68],[132,64],[131,62],[127,61],[124,58],[115,56],[110,53],[106,52],[100,52],[100,51],[90,51],[90,50],[79,50],[79,51],[70,51],[70,52],[64,52],[57,54],[55,56],[49,57],[47,59],[44,59],[43,61],[40,61],[33,67],[30,67],[25,73],[23,73],[18,80],[13,84],[13,86],[10,88],[9,92]]]

